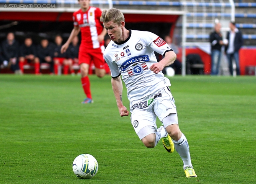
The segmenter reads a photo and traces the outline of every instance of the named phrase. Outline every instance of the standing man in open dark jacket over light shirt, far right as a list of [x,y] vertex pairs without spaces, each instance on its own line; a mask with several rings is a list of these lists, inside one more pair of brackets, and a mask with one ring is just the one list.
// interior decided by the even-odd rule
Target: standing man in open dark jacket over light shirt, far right
[[228,44],[225,46],[225,52],[229,62],[229,71],[233,75],[233,58],[236,61],[236,74],[240,75],[239,55],[238,51],[243,45],[243,37],[241,31],[236,28],[235,22],[230,22],[230,31],[227,33]]

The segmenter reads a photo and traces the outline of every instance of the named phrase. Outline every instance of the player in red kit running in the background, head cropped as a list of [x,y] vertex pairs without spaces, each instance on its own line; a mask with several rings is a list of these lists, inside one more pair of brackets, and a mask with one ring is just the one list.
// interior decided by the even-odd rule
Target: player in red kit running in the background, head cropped
[[86,97],[83,104],[92,103],[92,94],[90,91],[90,80],[88,71],[90,63],[95,65],[95,73],[98,77],[105,75],[105,61],[103,58],[104,36],[106,30],[100,22],[101,10],[90,6],[90,0],[78,0],[81,9],[74,12],[74,29],[66,43],[62,46],[61,52],[66,52],[69,44],[74,37],[81,31],[81,44],[79,48],[78,60],[81,70],[81,82]]

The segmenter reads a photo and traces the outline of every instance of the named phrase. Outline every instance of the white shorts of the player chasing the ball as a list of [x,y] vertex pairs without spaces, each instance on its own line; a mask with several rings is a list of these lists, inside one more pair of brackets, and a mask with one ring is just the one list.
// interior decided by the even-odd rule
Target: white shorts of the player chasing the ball
[[164,87],[138,103],[130,103],[131,123],[136,134],[146,126],[157,129],[156,117],[162,121],[169,114],[177,114],[174,98],[168,87]]

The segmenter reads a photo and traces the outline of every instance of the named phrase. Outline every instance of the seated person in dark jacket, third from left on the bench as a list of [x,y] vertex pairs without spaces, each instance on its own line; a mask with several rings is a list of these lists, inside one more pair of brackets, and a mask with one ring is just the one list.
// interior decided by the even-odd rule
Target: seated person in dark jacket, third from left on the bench
[[53,51],[48,39],[41,40],[41,44],[37,47],[37,56],[40,63],[48,63],[50,65],[50,74],[53,74]]

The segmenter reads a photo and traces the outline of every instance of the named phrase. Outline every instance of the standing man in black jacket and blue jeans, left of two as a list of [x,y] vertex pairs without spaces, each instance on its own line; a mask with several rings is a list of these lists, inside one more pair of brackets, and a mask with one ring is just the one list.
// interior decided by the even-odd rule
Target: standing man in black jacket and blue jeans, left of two
[[214,31],[210,34],[210,43],[212,51],[212,67],[211,74],[218,75],[221,59],[221,47],[223,45],[222,34],[220,33],[221,24],[216,23]]

